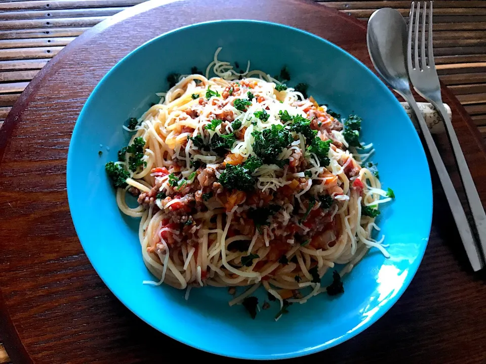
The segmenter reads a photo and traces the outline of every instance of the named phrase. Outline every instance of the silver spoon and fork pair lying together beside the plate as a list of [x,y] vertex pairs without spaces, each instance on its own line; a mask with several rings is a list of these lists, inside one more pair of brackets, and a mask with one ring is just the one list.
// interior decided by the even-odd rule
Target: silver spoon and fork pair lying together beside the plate
[[[412,2],[408,30],[398,11],[389,8],[377,10],[368,21],[367,42],[375,69],[407,101],[417,118],[467,256],[472,268],[477,271],[484,266],[483,254],[486,254],[486,214],[451,119],[442,103],[432,46],[432,2],[422,5]],[[446,166],[412,95],[410,83],[419,95],[434,106],[444,121],[473,217],[473,226],[468,223]]]

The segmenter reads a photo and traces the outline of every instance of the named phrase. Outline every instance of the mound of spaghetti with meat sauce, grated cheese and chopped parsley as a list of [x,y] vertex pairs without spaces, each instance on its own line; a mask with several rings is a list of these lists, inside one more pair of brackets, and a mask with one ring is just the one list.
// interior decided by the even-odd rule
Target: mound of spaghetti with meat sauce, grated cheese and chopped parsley
[[[378,204],[394,197],[375,165],[360,162],[355,147],[373,153],[357,142],[360,119],[343,127],[250,63],[237,73],[220,50],[205,76],[180,76],[124,126],[134,132],[129,146],[106,166],[119,209],[141,217],[142,257],[157,278],[144,283],[187,288],[186,298],[191,287],[250,286],[230,305],[262,285],[281,309],[343,292],[340,276],[370,248],[388,256],[383,237],[371,236]],[[321,287],[336,264],[346,265]]]

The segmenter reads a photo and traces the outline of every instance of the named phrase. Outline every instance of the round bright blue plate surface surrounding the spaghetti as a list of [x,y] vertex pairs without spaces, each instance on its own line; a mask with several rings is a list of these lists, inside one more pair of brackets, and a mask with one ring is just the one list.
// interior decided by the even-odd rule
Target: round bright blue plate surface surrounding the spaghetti
[[[221,31],[229,23],[231,32]],[[158,101],[155,93],[168,89],[169,73],[205,68],[217,47],[223,47],[219,59],[240,65],[250,59],[252,69],[270,74],[278,74],[286,64],[291,84],[306,82],[309,95],[319,103],[343,115],[361,116],[362,141],[374,143],[373,161],[379,165],[382,184],[396,196],[378,221],[391,258],[371,249],[343,278],[343,295],[318,295],[306,304],[294,304],[278,322],[273,320],[277,304],[251,320],[242,306],[229,307],[225,288],[193,289],[186,301],[185,291],[143,285],[143,280],[154,278],[142,261],[139,219],[118,210],[104,170],[105,163],[115,160],[117,150],[129,141],[122,123]],[[121,302],[149,325],[185,344],[247,359],[310,354],[369,327],[412,280],[427,245],[432,216],[424,150],[412,122],[386,86],[326,40],[287,26],[242,20],[195,24],[160,35],[113,67],[94,89],[74,127],[67,192],[79,240]],[[257,296],[263,302],[266,295]]]

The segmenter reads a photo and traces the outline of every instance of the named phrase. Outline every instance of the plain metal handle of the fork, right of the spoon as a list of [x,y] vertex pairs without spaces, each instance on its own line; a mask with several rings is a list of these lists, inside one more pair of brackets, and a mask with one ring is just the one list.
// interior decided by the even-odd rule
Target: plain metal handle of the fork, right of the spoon
[[459,174],[461,175],[462,184],[464,185],[464,191],[466,192],[472,217],[474,218],[474,222],[476,224],[478,239],[481,244],[482,252],[486,255],[486,213],[484,212],[481,199],[479,198],[476,186],[474,185],[471,171],[467,167],[466,158],[464,158],[464,153],[462,152],[461,145],[457,139],[456,131],[454,130],[454,126],[452,125],[449,115],[447,114],[446,108],[444,108],[442,102],[431,101],[431,103],[438,110],[440,116],[442,116],[442,119],[444,120],[444,124],[446,124],[447,136],[452,144]]

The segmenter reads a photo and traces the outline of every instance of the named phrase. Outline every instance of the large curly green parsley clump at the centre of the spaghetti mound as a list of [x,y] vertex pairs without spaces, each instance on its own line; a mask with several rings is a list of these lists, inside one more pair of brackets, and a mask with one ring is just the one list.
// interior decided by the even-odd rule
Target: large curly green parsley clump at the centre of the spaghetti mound
[[273,124],[271,129],[264,129],[263,132],[255,130],[252,132],[252,135],[255,138],[253,152],[265,164],[278,165],[278,163],[282,163],[277,161],[278,155],[282,152],[282,149],[294,141],[289,130],[282,125]]

